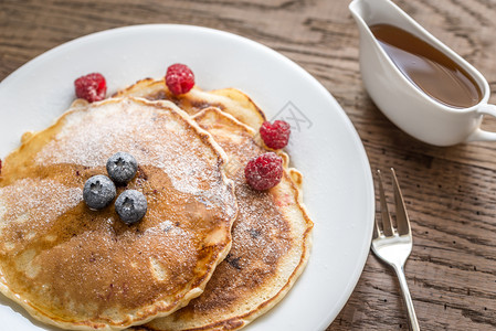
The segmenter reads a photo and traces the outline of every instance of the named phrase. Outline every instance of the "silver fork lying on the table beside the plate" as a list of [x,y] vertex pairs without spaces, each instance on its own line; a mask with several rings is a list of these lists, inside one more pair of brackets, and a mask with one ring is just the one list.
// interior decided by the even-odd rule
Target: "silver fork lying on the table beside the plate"
[[394,188],[397,227],[392,224],[388,204],[386,203],[381,171],[378,170],[377,173],[379,177],[382,231],[380,229],[379,221],[376,220],[372,250],[380,259],[390,265],[397,273],[401,292],[403,293],[404,305],[408,310],[410,329],[418,331],[420,330],[419,322],[416,321],[415,309],[413,308],[412,297],[410,296],[410,290],[407,285],[407,278],[404,278],[403,270],[404,263],[412,252],[412,232],[410,229],[410,221],[407,215],[403,195],[401,194],[394,169],[391,168]]

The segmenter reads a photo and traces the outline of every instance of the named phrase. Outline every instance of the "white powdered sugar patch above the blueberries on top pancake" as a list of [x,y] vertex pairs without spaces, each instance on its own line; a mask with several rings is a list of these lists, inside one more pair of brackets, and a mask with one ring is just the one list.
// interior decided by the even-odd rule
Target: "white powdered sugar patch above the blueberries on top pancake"
[[[183,124],[178,121],[160,124],[159,121],[163,120],[161,117],[143,121],[138,105],[122,103],[118,107],[125,111],[124,116],[112,117],[108,111],[95,111],[91,117],[85,113],[71,116],[66,122],[67,129],[57,134],[55,139],[38,153],[36,163],[98,167],[105,164],[116,146],[119,146],[120,150],[133,154],[138,164],[163,169],[175,188],[181,192],[201,194],[203,191],[201,182],[218,180],[212,178],[210,170],[212,164],[196,158],[194,151],[202,148],[201,140],[184,137]],[[84,117],[84,120],[81,117]],[[167,128],[163,131],[163,141],[158,140],[156,135],[148,134],[156,131],[157,125],[165,125]],[[78,131],[85,134],[74,136],[75,126]],[[140,137],[140,140],[138,142],[130,137]],[[178,152],[186,147],[190,152]],[[217,156],[209,157],[217,161]]]

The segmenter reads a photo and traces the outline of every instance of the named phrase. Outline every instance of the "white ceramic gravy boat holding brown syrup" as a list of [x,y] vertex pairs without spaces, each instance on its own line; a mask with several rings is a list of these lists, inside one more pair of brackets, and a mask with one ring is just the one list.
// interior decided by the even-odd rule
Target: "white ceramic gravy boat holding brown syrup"
[[[376,105],[392,122],[416,139],[435,146],[496,141],[495,132],[481,129],[483,115],[496,117],[496,106],[487,104],[489,85],[476,68],[389,0],[353,0],[349,9],[360,32],[363,84]],[[474,78],[482,92],[481,102],[467,108],[450,107],[422,92],[400,72],[377,42],[369,26],[379,23],[410,32],[451,57]]]

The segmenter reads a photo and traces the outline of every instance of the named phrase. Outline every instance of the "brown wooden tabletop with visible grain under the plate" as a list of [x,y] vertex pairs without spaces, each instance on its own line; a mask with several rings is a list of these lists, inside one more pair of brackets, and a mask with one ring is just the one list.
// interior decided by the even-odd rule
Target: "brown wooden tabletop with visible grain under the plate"
[[[394,1],[487,78],[496,103],[496,1]],[[74,38],[139,23],[233,32],[312,73],[360,135],[372,169],[394,167],[414,247],[407,278],[423,330],[496,328],[496,143],[437,148],[392,125],[361,84],[358,30],[344,0],[0,0],[0,79]],[[496,120],[484,128],[496,131]],[[338,271],[338,270],[336,270]],[[394,275],[373,255],[327,330],[403,330]]]

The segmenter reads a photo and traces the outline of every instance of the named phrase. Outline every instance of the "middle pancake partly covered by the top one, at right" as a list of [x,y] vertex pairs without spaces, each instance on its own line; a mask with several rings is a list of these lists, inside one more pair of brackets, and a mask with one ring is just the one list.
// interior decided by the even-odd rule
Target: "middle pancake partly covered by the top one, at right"
[[252,190],[245,183],[244,164],[266,151],[254,139],[255,130],[217,108],[204,109],[193,119],[230,158],[228,174],[236,184],[239,206],[232,248],[200,297],[134,330],[241,329],[287,293],[308,259],[313,223],[287,169],[275,188]]

